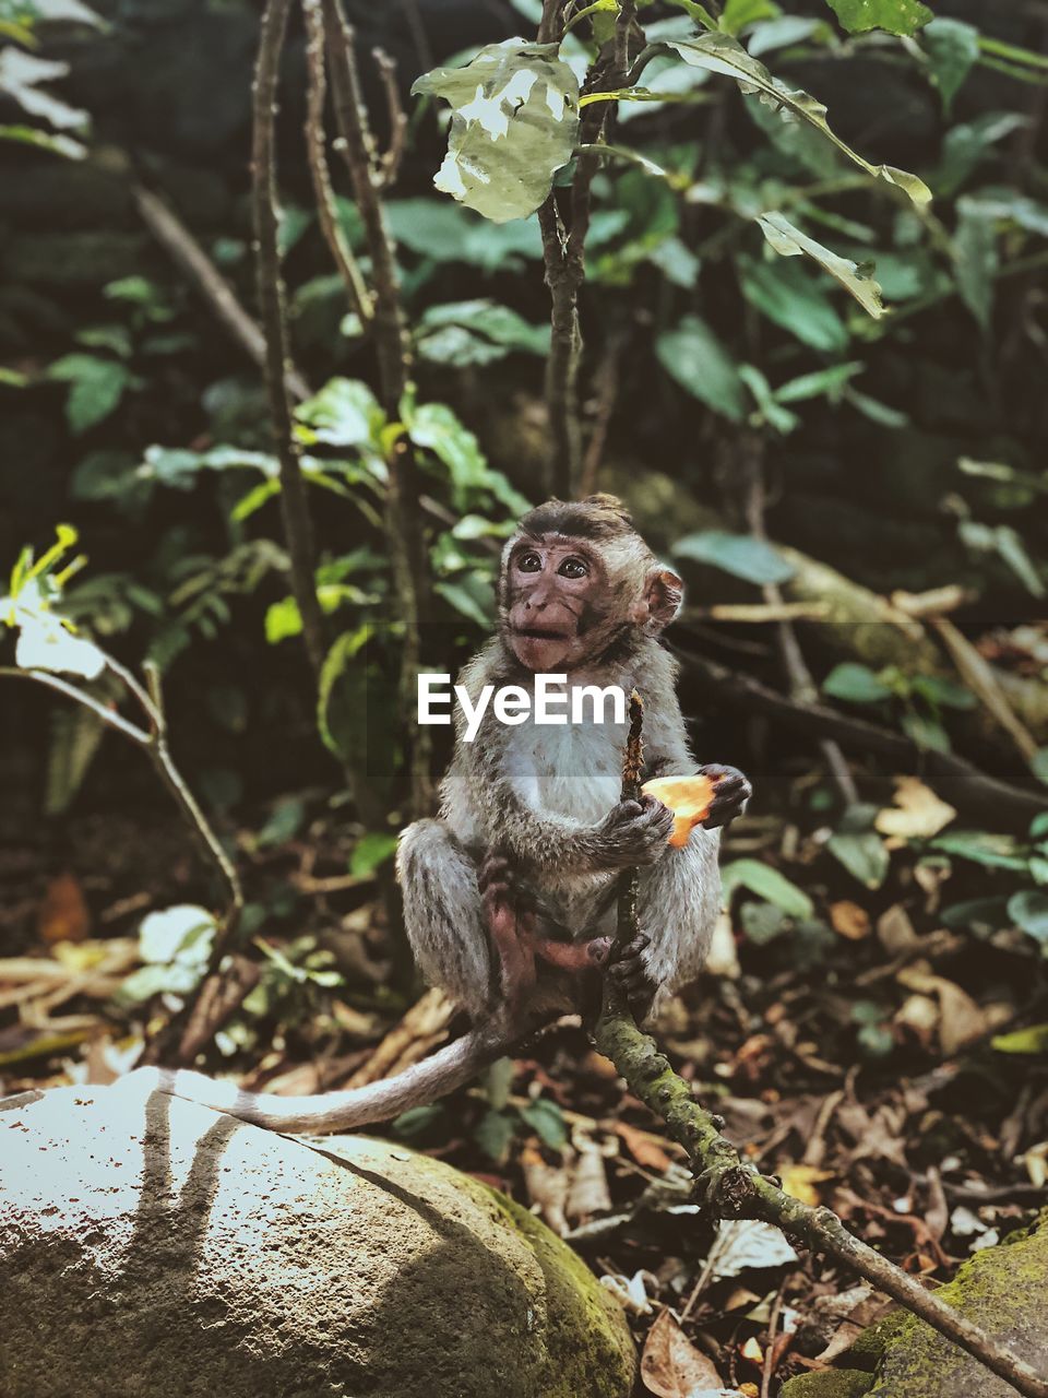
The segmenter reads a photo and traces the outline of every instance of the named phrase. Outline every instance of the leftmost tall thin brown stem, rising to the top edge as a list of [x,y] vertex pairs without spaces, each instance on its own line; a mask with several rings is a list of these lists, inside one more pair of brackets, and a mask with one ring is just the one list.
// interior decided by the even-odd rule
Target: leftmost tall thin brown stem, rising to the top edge
[[302,618],[302,637],[316,675],[324,664],[324,618],[316,590],[313,524],[302,480],[298,443],[285,383],[288,366],[288,319],[279,267],[279,224],[277,218],[275,112],[281,50],[288,27],[291,0],[267,0],[254,70],[252,203],[254,212],[259,312],[265,338],[265,390],[270,400],[272,436],[279,460],[281,516],[291,558],[291,586]]

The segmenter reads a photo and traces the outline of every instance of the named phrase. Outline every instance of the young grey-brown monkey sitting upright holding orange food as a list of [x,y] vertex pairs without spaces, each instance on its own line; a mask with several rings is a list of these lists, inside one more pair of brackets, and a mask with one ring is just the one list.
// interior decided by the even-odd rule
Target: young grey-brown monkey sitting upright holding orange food
[[[565,692],[619,686],[644,698],[644,776],[715,779],[704,822],[668,844],[672,812],[650,795],[622,800],[625,721],[513,724],[488,707],[465,741],[461,713],[440,786],[440,812],[401,835],[404,923],[423,977],[472,1029],[383,1082],[310,1097],[243,1092],[189,1069],[141,1068],[141,1088],[189,1097],[278,1131],[326,1132],[388,1120],[471,1081],[560,1014],[591,1012],[612,977],[639,1021],[693,980],[720,913],[720,836],[750,783],[735,768],[697,766],[661,642],[683,584],[661,565],[611,495],[551,499],[506,542],[497,626],[465,665],[471,703],[485,685]],[[615,949],[616,891],[639,870],[640,934]]]

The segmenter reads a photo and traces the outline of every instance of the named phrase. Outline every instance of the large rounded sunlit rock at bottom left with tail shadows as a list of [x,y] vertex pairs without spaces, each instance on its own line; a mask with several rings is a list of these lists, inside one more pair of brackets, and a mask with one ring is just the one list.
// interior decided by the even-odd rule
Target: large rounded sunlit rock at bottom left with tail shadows
[[383,1141],[61,1088],[0,1110],[4,1398],[625,1398],[623,1317],[503,1195]]

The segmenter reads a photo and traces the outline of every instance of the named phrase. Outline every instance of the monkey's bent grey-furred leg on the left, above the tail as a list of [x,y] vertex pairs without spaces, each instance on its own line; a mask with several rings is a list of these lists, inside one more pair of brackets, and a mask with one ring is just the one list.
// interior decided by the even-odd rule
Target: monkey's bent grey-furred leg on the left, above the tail
[[476,865],[442,821],[401,835],[397,877],[419,970],[474,1021],[490,1009],[492,963]]

